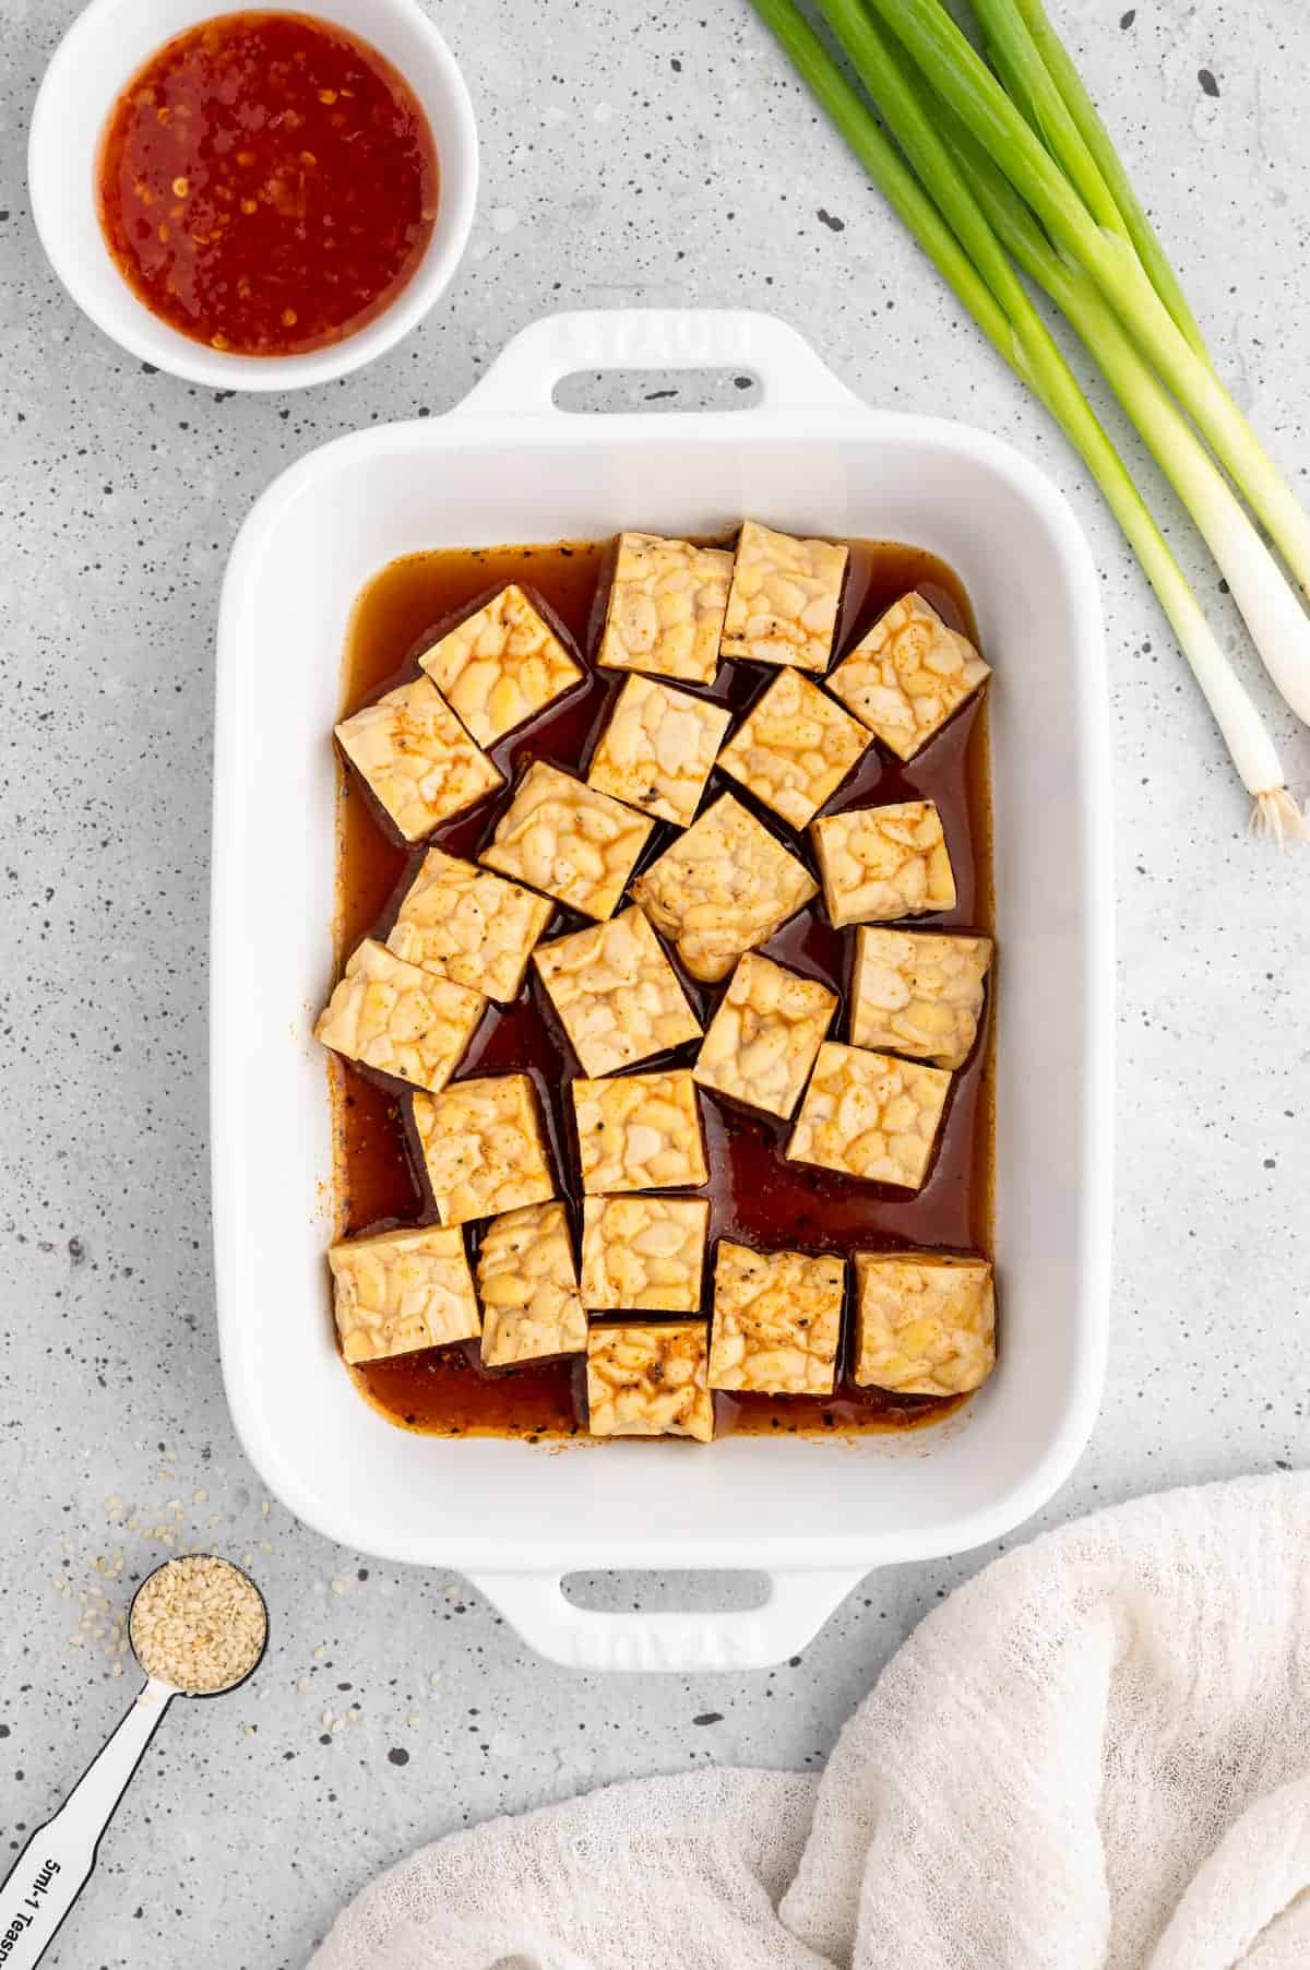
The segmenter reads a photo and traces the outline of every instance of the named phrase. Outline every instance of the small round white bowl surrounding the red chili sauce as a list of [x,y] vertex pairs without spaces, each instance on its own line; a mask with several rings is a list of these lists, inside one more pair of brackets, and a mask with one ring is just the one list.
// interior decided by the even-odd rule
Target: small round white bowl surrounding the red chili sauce
[[77,305],[142,362],[221,390],[331,382],[382,355],[420,321],[459,264],[477,197],[477,126],[445,39],[418,0],[309,0],[311,14],[370,41],[404,75],[437,146],[437,223],[408,286],[355,335],[303,357],[242,357],[179,335],[138,301],[114,266],[97,213],[97,154],[122,87],[175,33],[234,12],[223,0],[91,0],[45,71],[32,112],[28,183],[49,264]]

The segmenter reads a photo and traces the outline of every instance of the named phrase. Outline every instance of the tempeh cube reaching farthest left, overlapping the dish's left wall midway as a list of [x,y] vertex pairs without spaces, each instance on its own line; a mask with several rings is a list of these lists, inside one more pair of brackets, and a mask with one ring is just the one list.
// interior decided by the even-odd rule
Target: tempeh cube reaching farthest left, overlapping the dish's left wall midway
[[347,1060],[437,1093],[463,1060],[485,1011],[479,991],[439,979],[364,938],[313,1036]]

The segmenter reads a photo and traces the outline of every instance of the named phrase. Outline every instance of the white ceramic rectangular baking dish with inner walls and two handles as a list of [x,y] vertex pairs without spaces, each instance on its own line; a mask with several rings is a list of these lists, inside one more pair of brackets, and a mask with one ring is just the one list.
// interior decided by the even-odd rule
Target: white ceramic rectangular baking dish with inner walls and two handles
[[[569,416],[569,372],[727,366],[723,414]],[[331,985],[333,758],[351,603],[398,554],[796,532],[916,542],[959,569],[991,688],[1001,1365],[906,1438],[565,1450],[437,1440],[378,1416],[337,1357],[323,1253],[331,1137],[311,1017]],[[800,1649],[871,1568],[1036,1511],[1078,1458],[1105,1353],[1111,1127],[1109,751],[1097,579],[1064,498],[981,431],[867,408],[753,313],[557,315],[449,416],[286,471],[232,550],[219,623],[213,1208],[229,1401],[264,1481],[321,1533],[467,1574],[538,1651],[587,1669],[745,1669]],[[753,1611],[597,1613],[561,1578],[758,1568]]]

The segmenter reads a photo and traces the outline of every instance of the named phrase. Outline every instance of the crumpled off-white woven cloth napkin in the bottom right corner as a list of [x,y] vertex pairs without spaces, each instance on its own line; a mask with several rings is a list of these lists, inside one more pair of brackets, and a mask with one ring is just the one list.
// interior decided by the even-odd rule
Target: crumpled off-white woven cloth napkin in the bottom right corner
[[920,1623],[819,1781],[439,1840],[311,1970],[1308,1970],[1310,1476],[1172,1491]]

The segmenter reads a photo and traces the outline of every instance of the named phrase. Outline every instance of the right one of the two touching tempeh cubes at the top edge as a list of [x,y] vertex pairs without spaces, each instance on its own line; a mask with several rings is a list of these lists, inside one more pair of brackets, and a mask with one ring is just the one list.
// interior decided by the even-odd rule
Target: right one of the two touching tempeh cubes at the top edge
[[827,670],[847,550],[747,520],[723,619],[723,656]]

